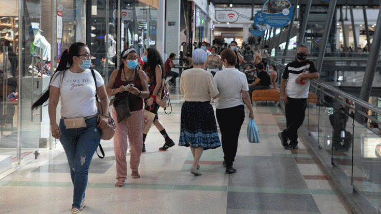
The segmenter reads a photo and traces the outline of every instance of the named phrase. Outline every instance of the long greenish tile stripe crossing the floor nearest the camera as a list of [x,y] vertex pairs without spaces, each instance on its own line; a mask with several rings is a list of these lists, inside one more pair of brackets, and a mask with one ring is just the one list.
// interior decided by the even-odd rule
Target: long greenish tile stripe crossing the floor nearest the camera
[[[8,184],[7,184],[8,183]],[[72,188],[71,182],[31,182],[31,181],[5,181],[1,186],[28,186],[28,187],[64,187]],[[114,189],[114,183],[88,183],[87,188],[108,188]],[[221,185],[180,185],[180,184],[140,184],[124,183],[124,189],[148,189],[148,190],[191,190],[191,191],[218,191],[218,192],[246,192],[246,193],[278,193],[278,194],[321,194],[335,195],[333,190],[320,189],[282,189],[282,188],[262,188],[246,186],[221,186]],[[369,196],[379,196],[381,193],[363,192]],[[368,194],[367,194],[368,193]]]

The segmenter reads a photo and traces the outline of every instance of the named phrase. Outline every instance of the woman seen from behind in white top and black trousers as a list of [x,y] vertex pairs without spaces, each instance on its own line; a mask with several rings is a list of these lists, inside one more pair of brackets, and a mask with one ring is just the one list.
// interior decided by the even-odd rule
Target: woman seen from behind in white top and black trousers
[[225,69],[218,71],[214,76],[219,91],[216,118],[221,131],[225,173],[231,174],[237,171],[233,168],[233,162],[237,153],[239,132],[245,119],[244,104],[250,111],[249,117],[252,119],[254,113],[250,104],[246,75],[235,68],[237,56],[234,51],[223,50],[221,58]]

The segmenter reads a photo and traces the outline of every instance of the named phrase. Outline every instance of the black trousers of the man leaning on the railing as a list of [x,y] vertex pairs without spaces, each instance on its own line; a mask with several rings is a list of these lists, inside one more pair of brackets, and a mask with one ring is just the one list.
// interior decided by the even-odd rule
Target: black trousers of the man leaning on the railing
[[285,103],[286,125],[283,130],[285,135],[290,140],[290,145],[298,144],[298,128],[303,124],[304,115],[306,114],[307,99],[287,98],[288,104]]

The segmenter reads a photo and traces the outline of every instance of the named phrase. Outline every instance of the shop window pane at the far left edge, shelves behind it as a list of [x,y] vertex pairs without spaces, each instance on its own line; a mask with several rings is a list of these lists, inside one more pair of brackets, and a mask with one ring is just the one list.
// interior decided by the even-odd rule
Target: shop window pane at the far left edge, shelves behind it
[[[16,6],[16,5],[15,5]],[[4,13],[4,14],[2,14]],[[5,16],[6,15],[6,16]],[[0,173],[11,168],[16,157],[18,119],[18,13],[0,13]],[[6,71],[6,72],[3,72]]]

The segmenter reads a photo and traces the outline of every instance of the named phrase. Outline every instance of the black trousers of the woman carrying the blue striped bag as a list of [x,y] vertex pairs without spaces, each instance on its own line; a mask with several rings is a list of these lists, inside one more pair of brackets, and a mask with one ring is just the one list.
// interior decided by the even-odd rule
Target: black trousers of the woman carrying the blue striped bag
[[216,118],[221,131],[221,144],[227,167],[233,166],[238,147],[238,137],[243,121],[245,108],[237,105],[227,109],[216,109]]

